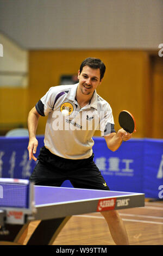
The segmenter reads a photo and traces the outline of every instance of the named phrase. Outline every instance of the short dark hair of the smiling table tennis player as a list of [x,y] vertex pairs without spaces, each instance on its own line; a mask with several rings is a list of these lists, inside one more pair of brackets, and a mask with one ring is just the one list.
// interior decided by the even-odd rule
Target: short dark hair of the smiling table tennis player
[[89,66],[92,69],[100,69],[100,81],[104,77],[106,68],[101,59],[90,57],[90,58],[86,58],[85,60],[83,60],[82,64],[80,65],[80,74],[81,74],[84,66]]

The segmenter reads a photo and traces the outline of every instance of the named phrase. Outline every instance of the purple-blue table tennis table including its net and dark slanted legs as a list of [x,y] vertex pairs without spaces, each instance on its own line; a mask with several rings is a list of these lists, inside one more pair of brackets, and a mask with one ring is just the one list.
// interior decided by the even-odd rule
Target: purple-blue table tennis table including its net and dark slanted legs
[[19,244],[31,221],[41,220],[27,245],[52,245],[72,215],[145,205],[145,194],[34,186],[0,179],[0,245]]

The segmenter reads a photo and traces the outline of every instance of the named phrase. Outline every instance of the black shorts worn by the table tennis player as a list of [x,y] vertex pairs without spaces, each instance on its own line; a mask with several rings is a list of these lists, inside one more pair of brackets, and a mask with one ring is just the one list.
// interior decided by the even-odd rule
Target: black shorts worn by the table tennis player
[[60,187],[65,180],[70,180],[76,188],[110,190],[93,157],[94,154],[88,159],[64,159],[42,147],[30,181],[35,185]]

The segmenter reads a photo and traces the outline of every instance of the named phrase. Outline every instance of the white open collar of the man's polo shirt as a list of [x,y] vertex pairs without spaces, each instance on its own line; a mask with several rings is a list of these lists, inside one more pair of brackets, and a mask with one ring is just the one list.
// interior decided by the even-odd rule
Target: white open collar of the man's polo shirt
[[[77,94],[77,88],[78,88],[78,84],[73,84],[72,88],[70,89],[70,91],[67,94],[67,98],[69,100],[72,100],[73,102],[76,101],[76,94]],[[90,107],[96,108],[97,109],[97,93],[96,90],[93,93],[91,102],[90,102]]]

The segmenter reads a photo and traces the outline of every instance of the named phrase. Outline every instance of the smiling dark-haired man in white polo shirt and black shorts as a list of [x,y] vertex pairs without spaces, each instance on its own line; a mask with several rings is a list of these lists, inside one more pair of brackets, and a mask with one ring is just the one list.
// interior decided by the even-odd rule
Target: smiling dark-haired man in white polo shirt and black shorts
[[[76,188],[109,190],[93,162],[92,136],[95,130],[101,130],[108,148],[115,151],[131,134],[123,129],[115,132],[111,107],[96,93],[104,73],[105,65],[100,59],[85,59],[78,71],[79,83],[51,87],[29,112],[29,159],[39,160],[30,176],[35,185],[61,186],[70,180]],[[36,159],[40,116],[48,119],[45,146]],[[127,232],[118,212],[101,213],[116,245],[128,245]]]

